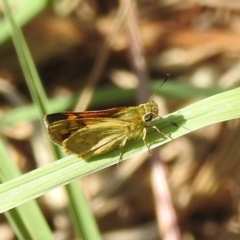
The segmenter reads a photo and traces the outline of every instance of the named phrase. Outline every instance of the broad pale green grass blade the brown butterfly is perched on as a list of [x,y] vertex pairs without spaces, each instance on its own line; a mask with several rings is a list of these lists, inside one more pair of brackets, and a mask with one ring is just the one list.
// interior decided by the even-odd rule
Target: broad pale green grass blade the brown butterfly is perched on
[[[166,117],[178,124],[179,127],[176,128],[163,119],[158,119],[152,124],[170,135],[172,139],[214,123],[239,118],[240,88],[206,98]],[[151,131],[147,135],[147,142],[151,149],[169,141],[170,139],[164,138],[157,131]],[[119,161],[120,151],[120,149],[116,149],[88,161],[79,161],[79,158],[70,155],[61,161],[2,184],[0,186],[0,212],[39,197],[55,187],[66,185],[78,177],[84,177],[116,164]],[[142,140],[127,142],[123,161],[146,151],[147,148]],[[16,196],[20,197],[16,198]]]

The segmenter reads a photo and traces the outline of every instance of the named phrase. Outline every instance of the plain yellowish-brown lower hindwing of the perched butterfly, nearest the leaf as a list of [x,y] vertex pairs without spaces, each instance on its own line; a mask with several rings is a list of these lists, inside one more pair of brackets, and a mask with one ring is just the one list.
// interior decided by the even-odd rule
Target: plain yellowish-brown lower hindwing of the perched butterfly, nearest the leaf
[[109,118],[84,119],[85,127],[63,141],[66,152],[88,159],[116,147],[123,147],[129,136],[128,123]]

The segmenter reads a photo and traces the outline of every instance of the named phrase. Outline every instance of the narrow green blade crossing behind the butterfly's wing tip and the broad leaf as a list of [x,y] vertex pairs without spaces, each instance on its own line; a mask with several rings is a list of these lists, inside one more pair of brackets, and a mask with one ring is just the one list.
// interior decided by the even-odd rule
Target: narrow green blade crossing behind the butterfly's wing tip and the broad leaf
[[[41,85],[40,78],[36,71],[31,54],[28,50],[27,44],[24,40],[21,30],[18,28],[17,24],[13,19],[13,16],[11,14],[11,10],[8,6],[7,1],[4,0],[3,3],[5,8],[5,16],[11,25],[14,45],[18,54],[18,58],[19,58],[29,91],[31,93],[33,101],[39,108],[40,116],[43,116],[49,113],[48,107],[47,107],[48,100],[47,100],[46,94]],[[56,149],[55,154],[57,158],[60,158],[61,155],[59,154],[59,151],[57,150],[57,148],[55,149]],[[76,191],[76,189],[79,189],[79,187],[80,186],[78,186],[77,183],[72,183],[71,185],[67,186],[68,188],[67,192],[70,192],[70,191],[72,192],[70,196],[69,204],[71,205],[70,206],[70,209],[72,210],[71,213],[74,215],[73,219],[76,220],[74,222],[74,226],[76,226],[77,232],[81,234],[83,239],[86,239],[86,240],[101,239],[97,224],[94,220],[94,217],[90,209],[88,208],[88,205],[86,204],[86,200],[83,195],[83,192],[80,190]],[[74,189],[74,192],[72,191],[72,188]],[[28,189],[25,189],[25,191],[28,191]],[[18,196],[16,196],[16,198],[17,197]],[[2,195],[0,195],[0,199],[2,199]],[[79,209],[85,209],[85,211],[80,213]],[[38,214],[40,217],[39,212],[35,211],[35,214],[36,215]],[[22,215],[21,218],[24,219],[25,218],[24,215]],[[14,217],[12,219],[14,220]],[[31,226],[31,223],[32,222],[30,222],[30,226]],[[43,231],[45,228],[48,228],[48,227],[46,225],[41,225],[41,226],[38,226],[37,229],[39,229],[39,231]],[[85,231],[82,232],[82,229],[84,229]],[[21,231],[21,228],[19,228],[18,231]],[[39,237],[39,238],[35,237],[31,239],[43,239],[40,234],[37,234],[36,229],[33,229],[32,231],[30,231],[30,233],[38,235]],[[30,239],[30,238],[25,238],[25,239]],[[44,239],[51,239],[51,237],[50,236],[48,238],[45,237]]]

